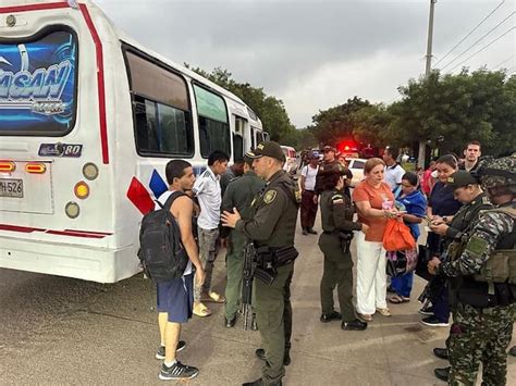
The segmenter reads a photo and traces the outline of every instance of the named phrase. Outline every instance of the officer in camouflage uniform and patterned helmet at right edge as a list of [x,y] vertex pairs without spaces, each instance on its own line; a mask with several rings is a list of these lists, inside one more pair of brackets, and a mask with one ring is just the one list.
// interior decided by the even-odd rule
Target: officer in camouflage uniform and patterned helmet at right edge
[[462,279],[450,339],[452,385],[474,385],[479,362],[482,384],[506,383],[516,300],[516,272],[509,264],[516,259],[515,171],[515,157],[479,165],[482,185],[497,207],[482,212],[458,259],[429,263],[429,271]]

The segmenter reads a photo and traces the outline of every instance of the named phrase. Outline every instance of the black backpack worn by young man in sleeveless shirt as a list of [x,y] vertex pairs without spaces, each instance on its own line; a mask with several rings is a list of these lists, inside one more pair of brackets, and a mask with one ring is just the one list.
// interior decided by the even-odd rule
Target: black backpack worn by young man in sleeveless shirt
[[138,258],[147,276],[152,281],[170,282],[183,275],[188,254],[181,242],[181,231],[170,208],[177,197],[185,196],[174,191],[161,209],[147,213],[139,229]]

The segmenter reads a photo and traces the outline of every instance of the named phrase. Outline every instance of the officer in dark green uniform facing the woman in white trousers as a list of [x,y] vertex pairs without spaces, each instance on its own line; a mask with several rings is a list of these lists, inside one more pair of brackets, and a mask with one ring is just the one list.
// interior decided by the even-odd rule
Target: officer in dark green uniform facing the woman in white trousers
[[[353,261],[351,242],[353,231],[367,232],[368,226],[353,221],[354,209],[351,199],[344,194],[344,178],[333,174],[325,178],[320,199],[323,233],[319,238],[319,248],[324,254],[321,278],[320,321],[328,323],[343,320],[342,329],[364,331],[367,323],[358,320],[353,307]],[[341,312],[333,308],[333,289],[337,286]]]

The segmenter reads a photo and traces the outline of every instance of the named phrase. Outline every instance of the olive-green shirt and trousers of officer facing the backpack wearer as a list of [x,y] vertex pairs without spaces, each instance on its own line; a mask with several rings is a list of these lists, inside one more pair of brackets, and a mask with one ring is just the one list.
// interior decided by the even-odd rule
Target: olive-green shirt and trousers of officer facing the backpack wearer
[[[256,247],[272,250],[294,246],[299,200],[297,185],[284,171],[270,177],[263,191],[253,203],[251,220],[238,220],[236,231],[255,241]],[[297,201],[298,202],[298,201]],[[271,285],[255,277],[254,310],[267,361],[262,368],[261,383],[279,385],[285,374],[283,360],[290,350],[292,334],[292,307],[290,283],[294,272],[291,261],[275,267]]]

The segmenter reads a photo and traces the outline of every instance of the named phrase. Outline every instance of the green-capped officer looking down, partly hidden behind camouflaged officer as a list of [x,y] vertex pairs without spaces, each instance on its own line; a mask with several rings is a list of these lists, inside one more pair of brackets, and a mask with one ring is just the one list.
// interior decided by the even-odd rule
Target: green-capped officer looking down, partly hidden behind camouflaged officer
[[[468,229],[478,221],[480,212],[492,208],[489,197],[480,188],[478,179],[466,171],[457,171],[450,176],[446,182],[454,192],[454,197],[464,203],[457,213],[451,219],[434,217],[430,225],[432,232],[445,237],[446,259],[458,258],[455,254],[462,250],[462,245],[467,240]],[[449,299],[452,311],[456,308],[456,291],[454,288],[459,285],[457,279],[447,279],[440,277],[440,279],[447,282]],[[446,346],[449,339],[446,340]],[[438,358],[447,359],[449,352],[446,348],[434,348],[433,353]],[[442,381],[447,381],[450,368],[435,369],[434,374]]]

